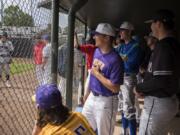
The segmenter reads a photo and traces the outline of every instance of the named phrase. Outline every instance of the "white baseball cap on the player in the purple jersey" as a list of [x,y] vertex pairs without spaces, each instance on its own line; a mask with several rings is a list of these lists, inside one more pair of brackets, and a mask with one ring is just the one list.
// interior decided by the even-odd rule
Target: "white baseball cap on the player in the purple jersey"
[[107,36],[115,36],[115,30],[113,29],[113,27],[109,24],[109,23],[100,23],[98,24],[95,34],[99,33],[99,34],[104,34]]

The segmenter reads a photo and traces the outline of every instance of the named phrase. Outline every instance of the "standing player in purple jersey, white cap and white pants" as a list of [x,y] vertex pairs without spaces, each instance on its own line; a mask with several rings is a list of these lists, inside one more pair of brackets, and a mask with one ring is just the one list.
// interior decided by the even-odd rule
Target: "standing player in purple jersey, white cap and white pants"
[[82,113],[98,135],[112,135],[118,108],[118,92],[123,82],[122,59],[112,47],[115,32],[108,23],[98,24],[88,96]]

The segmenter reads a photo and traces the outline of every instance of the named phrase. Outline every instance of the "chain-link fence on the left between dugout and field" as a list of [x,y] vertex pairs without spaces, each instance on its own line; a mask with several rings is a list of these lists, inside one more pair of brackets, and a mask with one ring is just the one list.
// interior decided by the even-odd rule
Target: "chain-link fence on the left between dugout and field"
[[[41,0],[1,0],[0,39],[0,134],[30,135],[36,116],[31,96],[39,85],[35,58],[37,37],[50,33],[51,11],[38,8]],[[4,41],[4,34],[7,40]],[[66,35],[60,36],[60,44]],[[2,41],[3,40],[3,41]],[[12,45],[11,45],[12,43]],[[10,47],[11,46],[11,47]],[[75,50],[73,106],[77,104],[77,89],[81,54]],[[37,76],[38,75],[38,76]]]

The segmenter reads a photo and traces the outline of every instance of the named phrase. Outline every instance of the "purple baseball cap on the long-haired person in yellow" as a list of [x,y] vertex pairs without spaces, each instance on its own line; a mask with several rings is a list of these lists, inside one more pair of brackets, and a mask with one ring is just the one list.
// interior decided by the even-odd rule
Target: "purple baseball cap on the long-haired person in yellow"
[[40,109],[51,109],[62,104],[61,93],[56,84],[41,85],[36,89],[36,104]]

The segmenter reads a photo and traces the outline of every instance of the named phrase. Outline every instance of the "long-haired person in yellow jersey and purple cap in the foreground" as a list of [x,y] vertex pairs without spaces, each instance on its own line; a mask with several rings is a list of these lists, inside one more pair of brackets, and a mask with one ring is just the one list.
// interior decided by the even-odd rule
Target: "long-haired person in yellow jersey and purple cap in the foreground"
[[95,135],[85,117],[70,112],[62,104],[55,84],[45,84],[36,90],[38,118],[32,135]]

